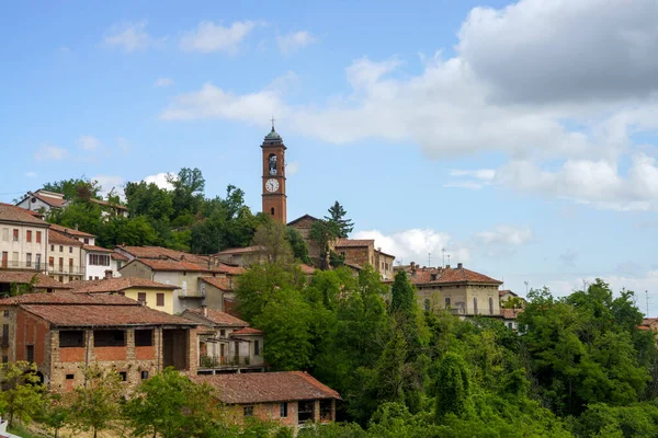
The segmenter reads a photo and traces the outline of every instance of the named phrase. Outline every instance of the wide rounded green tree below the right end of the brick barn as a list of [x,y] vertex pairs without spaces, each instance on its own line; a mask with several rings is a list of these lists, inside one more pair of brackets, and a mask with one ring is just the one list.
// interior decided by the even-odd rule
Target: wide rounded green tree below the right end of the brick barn
[[173,368],[141,382],[124,414],[135,437],[179,438],[202,436],[212,423],[216,402],[213,390],[193,383]]

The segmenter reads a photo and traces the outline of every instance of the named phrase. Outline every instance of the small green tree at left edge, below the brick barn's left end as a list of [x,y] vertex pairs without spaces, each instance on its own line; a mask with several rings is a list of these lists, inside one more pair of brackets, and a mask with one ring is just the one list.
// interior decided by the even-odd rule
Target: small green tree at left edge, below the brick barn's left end
[[23,360],[3,364],[0,388],[0,407],[9,415],[10,425],[15,418],[31,422],[38,414],[45,388],[36,374],[36,365]]

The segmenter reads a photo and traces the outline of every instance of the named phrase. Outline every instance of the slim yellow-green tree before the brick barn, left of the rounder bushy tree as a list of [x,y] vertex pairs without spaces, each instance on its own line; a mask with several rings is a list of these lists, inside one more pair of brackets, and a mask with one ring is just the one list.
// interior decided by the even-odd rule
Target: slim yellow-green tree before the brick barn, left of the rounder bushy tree
[[84,370],[84,387],[76,388],[71,411],[78,427],[92,430],[97,438],[99,430],[118,418],[123,387],[116,371],[95,365]]

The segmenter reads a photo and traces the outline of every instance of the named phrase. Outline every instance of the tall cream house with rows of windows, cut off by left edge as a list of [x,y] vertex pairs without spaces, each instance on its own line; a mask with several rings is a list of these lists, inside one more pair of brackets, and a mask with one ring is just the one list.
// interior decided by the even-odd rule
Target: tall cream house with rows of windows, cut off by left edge
[[30,211],[0,203],[0,269],[45,273],[48,227]]

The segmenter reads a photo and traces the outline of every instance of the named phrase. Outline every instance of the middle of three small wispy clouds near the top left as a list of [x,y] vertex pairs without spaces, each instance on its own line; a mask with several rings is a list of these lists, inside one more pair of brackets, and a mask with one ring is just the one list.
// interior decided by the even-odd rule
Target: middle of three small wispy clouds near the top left
[[226,27],[212,21],[202,21],[196,30],[186,32],[181,37],[180,47],[185,51],[236,54],[240,43],[256,25],[252,21],[237,21]]

